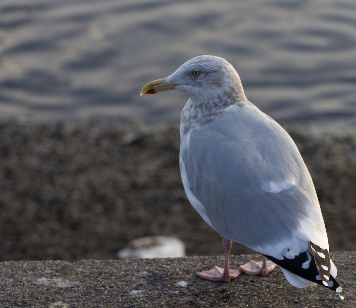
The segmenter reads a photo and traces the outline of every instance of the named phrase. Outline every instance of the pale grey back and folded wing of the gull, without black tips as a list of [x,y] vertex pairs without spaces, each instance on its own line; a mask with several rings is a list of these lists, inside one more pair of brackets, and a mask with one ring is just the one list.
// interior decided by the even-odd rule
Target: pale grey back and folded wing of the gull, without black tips
[[277,259],[294,258],[309,240],[327,245],[310,174],[274,120],[262,112],[229,114],[186,138],[180,151],[184,188],[221,236]]

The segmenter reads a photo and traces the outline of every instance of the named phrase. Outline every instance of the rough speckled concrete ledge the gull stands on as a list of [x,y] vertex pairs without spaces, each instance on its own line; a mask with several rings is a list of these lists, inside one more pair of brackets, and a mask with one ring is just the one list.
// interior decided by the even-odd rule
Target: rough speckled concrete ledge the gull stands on
[[[7,261],[0,263],[0,307],[356,307],[356,252],[331,254],[343,301],[321,286],[297,289],[276,269],[213,282],[195,271],[223,257]],[[231,256],[237,266],[260,255]]]

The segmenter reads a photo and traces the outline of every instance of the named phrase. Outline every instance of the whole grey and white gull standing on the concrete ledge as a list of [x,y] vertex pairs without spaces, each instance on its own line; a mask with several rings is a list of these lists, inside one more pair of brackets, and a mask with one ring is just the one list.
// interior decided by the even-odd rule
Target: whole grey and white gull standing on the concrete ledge
[[[265,276],[277,264],[295,287],[319,284],[341,292],[302,156],[282,126],[247,100],[234,67],[223,58],[197,56],[147,83],[141,95],[172,89],[189,96],[180,118],[185,193],[224,238],[224,268],[197,275],[229,281],[242,271]],[[229,270],[231,241],[262,254],[263,262]]]

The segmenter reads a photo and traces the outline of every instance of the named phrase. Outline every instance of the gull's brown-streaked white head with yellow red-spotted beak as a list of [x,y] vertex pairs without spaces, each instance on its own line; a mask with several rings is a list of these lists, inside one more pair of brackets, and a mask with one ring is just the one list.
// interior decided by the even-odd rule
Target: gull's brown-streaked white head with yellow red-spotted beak
[[182,64],[172,75],[151,81],[141,90],[143,94],[178,90],[192,101],[216,101],[229,98],[234,102],[245,101],[239,74],[225,59],[202,55]]

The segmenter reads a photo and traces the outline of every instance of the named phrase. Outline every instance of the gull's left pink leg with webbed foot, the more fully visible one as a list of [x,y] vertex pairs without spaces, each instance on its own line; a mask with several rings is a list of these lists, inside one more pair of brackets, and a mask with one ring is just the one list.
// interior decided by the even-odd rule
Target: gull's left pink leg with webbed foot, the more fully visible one
[[229,254],[231,250],[231,241],[227,238],[224,238],[223,244],[225,246],[224,268],[219,268],[218,266],[215,266],[209,271],[197,272],[197,276],[214,281],[229,282],[231,279],[234,279],[240,275],[240,273],[242,272],[240,270],[229,270]]

